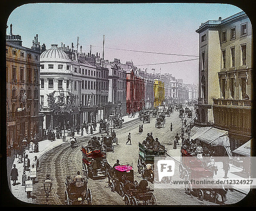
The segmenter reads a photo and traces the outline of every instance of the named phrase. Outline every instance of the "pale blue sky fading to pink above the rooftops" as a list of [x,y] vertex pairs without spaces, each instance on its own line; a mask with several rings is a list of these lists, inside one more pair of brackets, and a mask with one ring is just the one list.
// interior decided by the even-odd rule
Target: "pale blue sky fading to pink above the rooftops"
[[[35,34],[46,44],[63,42],[76,46],[77,36],[83,52],[90,45],[124,48],[138,51],[154,51],[171,54],[198,55],[196,29],[207,20],[218,20],[242,11],[227,4],[27,4],[16,8],[7,25],[13,25],[13,34],[20,34],[23,46],[30,47]],[[9,28],[7,29],[9,34]],[[80,46],[79,46],[80,49]],[[79,50],[80,51],[80,50]],[[102,48],[93,47],[92,53]],[[122,63],[132,60],[134,65],[164,63],[195,57],[146,54],[105,48],[104,59]],[[185,83],[198,83],[198,60],[155,66],[156,72],[169,72]]]

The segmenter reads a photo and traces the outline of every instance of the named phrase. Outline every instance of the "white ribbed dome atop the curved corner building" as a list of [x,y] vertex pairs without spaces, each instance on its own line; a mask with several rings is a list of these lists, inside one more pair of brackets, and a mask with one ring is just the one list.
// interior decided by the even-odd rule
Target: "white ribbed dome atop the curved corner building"
[[52,48],[44,51],[40,55],[40,62],[49,62],[49,61],[71,61],[67,54],[60,50],[57,44],[52,44]]

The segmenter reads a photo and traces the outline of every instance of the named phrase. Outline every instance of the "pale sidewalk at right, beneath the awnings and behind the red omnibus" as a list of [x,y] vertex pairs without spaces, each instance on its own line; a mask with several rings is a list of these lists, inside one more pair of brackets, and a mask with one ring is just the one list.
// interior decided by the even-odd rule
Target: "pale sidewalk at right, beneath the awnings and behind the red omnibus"
[[[172,157],[178,163],[180,163],[180,146],[179,145],[177,145],[177,149],[171,149],[167,151],[166,154]],[[213,175],[213,178],[215,180],[224,179],[223,163],[221,161],[215,162],[215,166],[218,166],[218,171],[216,175],[215,174]],[[248,179],[245,176],[245,174],[242,173],[242,171],[243,171],[242,168],[239,168],[236,165],[233,165],[230,163],[230,171],[227,174],[227,177],[228,177],[227,179],[228,180],[233,180],[233,179],[244,180],[245,178]],[[248,194],[248,192],[250,191],[250,185],[248,185],[248,188],[244,188],[244,189],[241,189],[241,187],[234,185],[234,189],[244,194]]]

